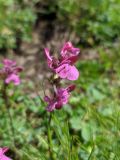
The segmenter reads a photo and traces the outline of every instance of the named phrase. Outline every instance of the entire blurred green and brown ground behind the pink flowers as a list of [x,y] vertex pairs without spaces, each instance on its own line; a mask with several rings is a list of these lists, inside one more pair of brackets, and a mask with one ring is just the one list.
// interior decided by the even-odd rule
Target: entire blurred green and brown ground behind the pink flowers
[[51,160],[43,47],[58,52],[66,40],[81,48],[80,77],[53,115],[54,160],[120,160],[120,0],[0,0],[0,59],[25,68],[22,84],[8,89],[17,147],[1,95],[0,146],[13,160]]

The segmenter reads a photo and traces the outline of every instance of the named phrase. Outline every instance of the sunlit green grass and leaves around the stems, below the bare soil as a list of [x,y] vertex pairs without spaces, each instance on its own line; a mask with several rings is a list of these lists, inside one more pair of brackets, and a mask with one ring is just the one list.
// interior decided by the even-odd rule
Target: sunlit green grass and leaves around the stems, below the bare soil
[[[98,59],[78,63],[81,76],[76,92],[68,105],[52,115],[49,134],[54,160],[120,159],[119,47],[97,50]],[[24,84],[10,86],[8,93],[17,146],[2,97],[0,146],[9,146],[14,160],[50,159],[44,102],[39,96],[26,95]]]

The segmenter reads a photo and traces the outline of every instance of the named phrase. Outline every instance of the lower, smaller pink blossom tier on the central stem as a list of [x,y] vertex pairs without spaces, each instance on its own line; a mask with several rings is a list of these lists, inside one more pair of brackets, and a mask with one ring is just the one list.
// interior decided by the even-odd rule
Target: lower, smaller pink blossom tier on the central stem
[[55,96],[50,98],[48,96],[44,97],[45,102],[48,103],[46,110],[52,112],[55,109],[61,109],[64,104],[68,103],[70,97],[70,92],[75,89],[75,85],[71,85],[67,88],[57,89]]

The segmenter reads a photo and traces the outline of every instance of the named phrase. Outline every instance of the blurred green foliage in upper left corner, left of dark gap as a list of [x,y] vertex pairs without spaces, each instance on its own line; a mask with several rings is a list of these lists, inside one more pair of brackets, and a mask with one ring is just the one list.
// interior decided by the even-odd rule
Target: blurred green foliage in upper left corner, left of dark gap
[[16,39],[30,40],[34,20],[32,3],[0,0],[0,48],[14,48]]

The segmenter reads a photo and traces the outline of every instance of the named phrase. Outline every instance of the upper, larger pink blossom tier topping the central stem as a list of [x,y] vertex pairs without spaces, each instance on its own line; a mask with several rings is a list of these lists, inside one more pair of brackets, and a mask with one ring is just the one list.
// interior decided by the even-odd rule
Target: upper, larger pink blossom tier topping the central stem
[[48,67],[62,79],[77,80],[79,71],[74,66],[74,63],[78,60],[79,52],[78,48],[74,48],[70,42],[67,42],[62,48],[60,59],[58,60],[50,56],[49,50],[45,48]]

